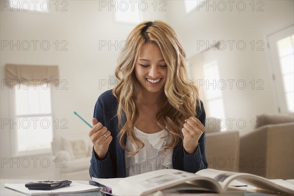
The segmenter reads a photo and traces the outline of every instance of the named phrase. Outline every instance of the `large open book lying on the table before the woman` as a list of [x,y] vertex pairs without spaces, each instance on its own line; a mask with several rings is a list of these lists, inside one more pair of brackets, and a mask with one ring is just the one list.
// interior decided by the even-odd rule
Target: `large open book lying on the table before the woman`
[[[250,185],[278,194],[294,195],[294,185],[286,181],[277,184],[264,177],[253,174],[225,172],[213,169],[204,169],[196,173],[166,169],[120,179],[92,177],[92,180],[110,187],[112,194],[119,196],[147,195],[157,191],[162,191],[167,194],[173,193],[174,191],[182,191],[177,193],[183,193],[183,191],[184,193],[187,193],[185,191],[194,191],[194,193],[227,193],[230,187],[234,185],[235,187]],[[237,191],[236,189],[234,190]]]

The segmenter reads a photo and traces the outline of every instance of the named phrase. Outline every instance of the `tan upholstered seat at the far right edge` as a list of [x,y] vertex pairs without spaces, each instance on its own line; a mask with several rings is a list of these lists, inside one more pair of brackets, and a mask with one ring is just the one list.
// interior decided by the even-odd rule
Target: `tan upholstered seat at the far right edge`
[[239,172],[269,179],[294,179],[293,113],[265,114],[257,119],[263,124],[240,137],[240,159],[245,164],[239,166]]

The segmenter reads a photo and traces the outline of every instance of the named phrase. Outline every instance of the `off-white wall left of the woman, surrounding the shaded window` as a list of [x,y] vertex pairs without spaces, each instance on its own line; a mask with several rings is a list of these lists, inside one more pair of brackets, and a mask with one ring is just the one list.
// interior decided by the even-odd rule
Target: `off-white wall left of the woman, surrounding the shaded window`
[[[54,1],[55,2],[55,1]],[[54,90],[52,97],[53,119],[60,122],[67,119],[67,129],[55,129],[55,136],[88,134],[89,128],[73,115],[73,111],[79,113],[88,122],[92,121],[94,106],[98,96],[108,90],[108,86],[99,87],[99,80],[108,80],[109,75],[114,75],[117,57],[120,49],[103,47],[99,49],[99,41],[110,40],[111,44],[126,39],[128,33],[136,24],[120,24],[114,22],[113,12],[108,8],[101,8],[99,11],[98,1],[67,1],[68,11],[56,12],[51,4],[49,13],[10,11],[3,8],[1,14],[1,40],[48,40],[50,48],[45,51],[37,45],[28,50],[17,50],[5,47],[1,50],[0,76],[5,79],[4,65],[30,64],[30,65],[58,65],[60,80],[66,80],[68,90]],[[143,13],[143,20],[161,19],[167,21],[166,12],[156,9],[154,11],[149,3],[149,8]],[[64,6],[64,5],[62,5]],[[60,7],[59,7],[60,8]],[[114,8],[111,8],[114,10]],[[66,40],[67,51],[57,50],[53,44],[56,40]],[[39,42],[39,43],[40,43]],[[65,83],[63,83],[65,84]],[[61,84],[61,85],[63,85]],[[113,88],[113,87],[112,87]],[[10,97],[9,88],[1,89],[1,119],[10,119]],[[6,161],[11,158],[11,130],[9,126],[1,128],[1,159]],[[51,155],[43,155],[50,158]],[[15,157],[20,158],[42,156]],[[1,161],[2,161],[1,160]],[[33,161],[32,161],[33,163]],[[44,162],[45,163],[45,162]],[[24,162],[25,164],[25,162]],[[53,162],[51,166],[54,168]],[[45,174],[43,174],[45,173]],[[1,178],[44,178],[52,175],[49,169],[44,169],[37,164],[37,168],[18,168],[17,164],[4,164],[1,167]],[[44,176],[44,177],[42,177]]]

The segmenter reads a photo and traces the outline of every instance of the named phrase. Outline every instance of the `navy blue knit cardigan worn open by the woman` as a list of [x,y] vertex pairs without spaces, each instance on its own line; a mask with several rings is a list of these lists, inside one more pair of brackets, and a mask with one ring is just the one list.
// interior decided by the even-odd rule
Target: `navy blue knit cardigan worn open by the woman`
[[[205,110],[201,102],[201,111],[197,111],[196,118],[205,126]],[[125,160],[124,149],[119,143],[118,133],[118,117],[117,114],[118,100],[112,94],[112,90],[108,90],[101,94],[96,102],[94,109],[94,118],[108,128],[113,137],[106,158],[98,160],[93,148],[90,175],[96,178],[121,178],[125,177]],[[125,123],[125,121],[123,122]],[[123,144],[126,144],[126,134],[123,137]],[[184,150],[182,141],[180,140],[172,153],[172,168],[187,172],[197,172],[207,168],[205,156],[205,131],[198,141],[196,151],[189,155]]]

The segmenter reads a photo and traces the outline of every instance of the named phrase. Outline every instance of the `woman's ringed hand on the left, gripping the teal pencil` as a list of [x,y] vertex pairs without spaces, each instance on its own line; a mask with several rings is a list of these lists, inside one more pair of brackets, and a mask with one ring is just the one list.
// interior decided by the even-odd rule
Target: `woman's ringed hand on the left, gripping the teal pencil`
[[97,119],[93,118],[92,124],[93,128],[89,132],[89,137],[94,145],[98,159],[103,160],[106,157],[112,136],[110,131],[102,123],[99,123]]

